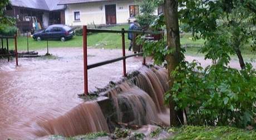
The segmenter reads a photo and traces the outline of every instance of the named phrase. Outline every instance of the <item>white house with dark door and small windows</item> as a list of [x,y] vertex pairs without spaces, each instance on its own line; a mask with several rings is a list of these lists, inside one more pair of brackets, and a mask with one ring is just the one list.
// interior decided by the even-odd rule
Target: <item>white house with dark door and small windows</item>
[[139,14],[134,0],[60,0],[68,26],[128,23]]

